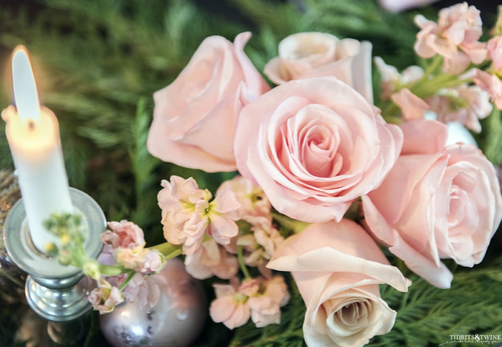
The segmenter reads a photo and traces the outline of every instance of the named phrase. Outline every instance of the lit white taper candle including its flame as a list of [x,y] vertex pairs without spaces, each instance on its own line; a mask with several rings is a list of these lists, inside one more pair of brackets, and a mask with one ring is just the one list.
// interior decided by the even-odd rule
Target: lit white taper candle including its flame
[[14,97],[17,107],[2,111],[16,167],[33,244],[44,252],[57,238],[43,226],[54,212],[73,212],[64,169],[59,124],[55,114],[40,107],[26,48],[13,53]]

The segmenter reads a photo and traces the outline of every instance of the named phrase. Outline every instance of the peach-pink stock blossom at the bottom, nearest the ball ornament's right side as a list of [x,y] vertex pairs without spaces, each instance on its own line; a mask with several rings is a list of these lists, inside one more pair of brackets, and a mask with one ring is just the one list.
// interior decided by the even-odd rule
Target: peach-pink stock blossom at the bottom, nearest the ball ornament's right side
[[244,325],[251,316],[246,304],[247,296],[237,291],[238,281],[233,278],[230,284],[213,284],[216,299],[209,306],[209,315],[216,323],[223,323],[233,329]]

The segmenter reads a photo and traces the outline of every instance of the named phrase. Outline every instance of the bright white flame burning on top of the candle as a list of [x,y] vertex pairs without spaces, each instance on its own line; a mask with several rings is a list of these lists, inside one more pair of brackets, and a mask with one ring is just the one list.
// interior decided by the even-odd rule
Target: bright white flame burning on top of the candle
[[40,103],[28,50],[24,46],[16,47],[12,54],[12,79],[19,117],[25,122],[36,122],[40,117]]

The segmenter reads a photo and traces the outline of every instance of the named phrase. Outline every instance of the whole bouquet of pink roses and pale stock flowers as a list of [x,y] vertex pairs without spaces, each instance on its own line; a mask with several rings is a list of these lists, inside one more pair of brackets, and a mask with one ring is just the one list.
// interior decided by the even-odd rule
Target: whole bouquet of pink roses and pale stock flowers
[[[486,39],[467,3],[415,24],[421,65],[402,71],[368,41],[323,32],[285,37],[263,71],[244,52],[249,32],[203,40],[155,92],[146,145],[164,162],[218,173],[217,189],[164,177],[156,202],[167,243],[147,248],[134,217],[111,221],[97,261],[61,234],[63,225],[78,235],[78,220],[47,223],[68,239],[53,254],[96,280],[94,309],[154,306],[155,274],[181,256],[210,281],[210,317],[235,329],[233,345],[468,339],[436,331],[423,341],[419,324],[407,334],[426,310],[443,324],[430,330],[472,332],[454,330],[467,312],[448,300],[471,298],[458,265],[481,263],[502,219],[497,170],[472,135],[500,117],[502,17]],[[489,269],[477,276],[500,281]],[[497,333],[484,321],[472,328]]]

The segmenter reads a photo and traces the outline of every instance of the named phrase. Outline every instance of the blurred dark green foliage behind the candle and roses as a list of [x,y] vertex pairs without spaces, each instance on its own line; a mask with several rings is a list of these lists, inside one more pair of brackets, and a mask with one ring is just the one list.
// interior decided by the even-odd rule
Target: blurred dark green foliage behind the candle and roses
[[[439,2],[420,12],[435,19],[437,8],[453,3]],[[495,21],[496,2],[470,3],[482,10],[489,28]],[[260,71],[277,56],[283,38],[302,31],[371,41],[373,55],[402,69],[420,64],[413,52],[416,13],[386,13],[374,0],[2,0],[0,106],[12,103],[10,55],[23,44],[31,54],[41,102],[60,122],[70,185],[91,195],[108,220],[138,223],[152,245],[163,241],[156,198],[161,179],[192,176],[199,186],[214,192],[232,175],[208,175],[163,163],[145,146],[153,92],[176,78],[205,37],[221,35],[233,41],[240,32],[253,32],[245,52]],[[499,118],[490,122],[490,127],[502,130]],[[4,128],[0,122],[2,134]],[[493,134],[499,138],[500,133]],[[497,149],[495,154],[502,153]],[[5,136],[0,136],[0,168],[13,168]],[[4,308],[0,325],[5,328],[12,312]],[[290,337],[302,344],[301,320],[291,324],[296,335]],[[270,329],[268,333],[278,334]],[[257,334],[261,332],[244,327],[236,336],[259,340]],[[102,343],[99,332],[90,336],[94,345]],[[222,345],[230,336],[221,324],[212,324],[200,339],[206,342],[198,345]],[[399,340],[392,336],[389,341]],[[240,338],[233,345],[246,345]],[[260,341],[256,345],[281,345],[267,338]]]

